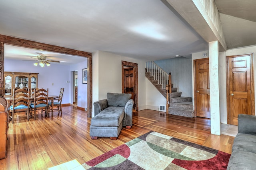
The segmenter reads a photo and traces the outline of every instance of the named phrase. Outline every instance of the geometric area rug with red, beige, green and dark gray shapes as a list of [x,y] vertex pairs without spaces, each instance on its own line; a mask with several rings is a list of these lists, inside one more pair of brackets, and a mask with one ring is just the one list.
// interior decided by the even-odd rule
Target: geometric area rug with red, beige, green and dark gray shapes
[[86,170],[226,170],[230,154],[150,131],[82,164]]

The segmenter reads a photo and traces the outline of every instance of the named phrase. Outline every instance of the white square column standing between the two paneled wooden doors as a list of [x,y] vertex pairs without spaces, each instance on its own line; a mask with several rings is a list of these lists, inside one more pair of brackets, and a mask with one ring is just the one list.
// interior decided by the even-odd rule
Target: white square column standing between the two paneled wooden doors
[[219,47],[218,41],[209,42],[209,78],[211,133],[220,135],[220,88],[219,88]]

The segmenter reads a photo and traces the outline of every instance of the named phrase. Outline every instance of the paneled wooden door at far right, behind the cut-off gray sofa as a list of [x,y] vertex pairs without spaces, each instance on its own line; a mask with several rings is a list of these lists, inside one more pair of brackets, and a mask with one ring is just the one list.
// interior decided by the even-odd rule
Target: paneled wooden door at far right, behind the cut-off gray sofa
[[239,114],[255,114],[252,54],[228,56],[226,63],[228,123],[238,125]]

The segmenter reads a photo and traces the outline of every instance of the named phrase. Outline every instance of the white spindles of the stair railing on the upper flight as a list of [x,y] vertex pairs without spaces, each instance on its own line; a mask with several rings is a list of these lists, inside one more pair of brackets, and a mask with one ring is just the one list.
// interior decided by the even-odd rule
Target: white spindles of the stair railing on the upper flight
[[154,61],[147,61],[145,64],[147,72],[150,72],[150,76],[154,76],[154,80],[158,80],[158,84],[161,84],[162,88],[165,89],[169,83],[169,74],[162,70]]

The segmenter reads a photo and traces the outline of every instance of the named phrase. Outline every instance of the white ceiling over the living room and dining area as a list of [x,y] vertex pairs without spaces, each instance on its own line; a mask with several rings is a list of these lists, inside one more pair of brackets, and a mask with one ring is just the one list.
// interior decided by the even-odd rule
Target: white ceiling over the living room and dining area
[[[250,33],[256,30],[256,0],[215,2],[228,48],[256,44],[256,34]],[[208,44],[174,13],[161,0],[0,0],[0,34],[147,61],[189,58],[208,50]],[[5,46],[7,59],[30,60],[36,52]],[[49,60],[66,61],[61,63],[81,59],[39,52]]]

